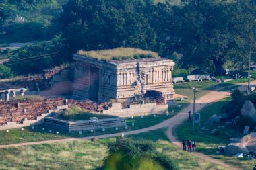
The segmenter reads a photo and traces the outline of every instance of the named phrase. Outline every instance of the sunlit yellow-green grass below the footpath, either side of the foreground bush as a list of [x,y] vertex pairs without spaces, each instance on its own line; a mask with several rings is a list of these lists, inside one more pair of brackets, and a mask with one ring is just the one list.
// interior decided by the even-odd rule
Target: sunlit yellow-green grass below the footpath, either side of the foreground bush
[[[151,132],[127,136],[132,140],[150,140],[158,151],[168,155],[179,169],[221,170],[225,169],[208,163],[181,151],[168,142],[165,128]],[[40,144],[0,149],[0,169],[96,169],[102,165],[107,155],[107,145],[115,138],[98,139],[93,144],[89,140]]]

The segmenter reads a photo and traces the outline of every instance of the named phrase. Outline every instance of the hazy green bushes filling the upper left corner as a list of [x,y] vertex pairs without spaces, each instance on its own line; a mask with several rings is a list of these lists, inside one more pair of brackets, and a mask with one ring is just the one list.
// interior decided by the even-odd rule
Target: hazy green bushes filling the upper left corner
[[47,40],[59,31],[62,8],[57,0],[2,0],[0,43]]

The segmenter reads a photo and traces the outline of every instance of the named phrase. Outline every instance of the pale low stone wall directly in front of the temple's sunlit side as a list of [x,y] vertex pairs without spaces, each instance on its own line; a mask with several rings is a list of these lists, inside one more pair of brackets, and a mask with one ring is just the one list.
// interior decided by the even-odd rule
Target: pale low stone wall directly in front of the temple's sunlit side
[[130,105],[130,108],[122,108],[121,103],[113,103],[111,108],[108,108],[108,110],[103,110],[103,114],[119,117],[164,114],[166,112],[168,112],[168,105],[157,105],[156,103]]

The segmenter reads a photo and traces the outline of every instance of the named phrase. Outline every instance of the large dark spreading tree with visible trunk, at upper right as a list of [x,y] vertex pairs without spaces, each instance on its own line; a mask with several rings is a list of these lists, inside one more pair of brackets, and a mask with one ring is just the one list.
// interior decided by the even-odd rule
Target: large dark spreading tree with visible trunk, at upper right
[[255,10],[251,0],[183,1],[174,11],[173,37],[183,63],[214,65],[214,75],[222,75],[227,60],[245,65],[250,48],[255,49]]

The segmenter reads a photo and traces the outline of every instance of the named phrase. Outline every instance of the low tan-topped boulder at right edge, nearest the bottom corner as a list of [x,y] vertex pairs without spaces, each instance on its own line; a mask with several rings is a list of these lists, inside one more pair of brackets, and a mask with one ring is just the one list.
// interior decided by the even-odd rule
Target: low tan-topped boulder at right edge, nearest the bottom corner
[[237,153],[256,153],[256,133],[247,134],[239,143],[230,143],[226,146],[224,154],[234,156]]

